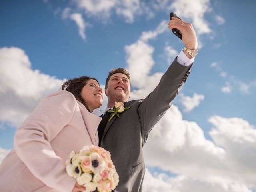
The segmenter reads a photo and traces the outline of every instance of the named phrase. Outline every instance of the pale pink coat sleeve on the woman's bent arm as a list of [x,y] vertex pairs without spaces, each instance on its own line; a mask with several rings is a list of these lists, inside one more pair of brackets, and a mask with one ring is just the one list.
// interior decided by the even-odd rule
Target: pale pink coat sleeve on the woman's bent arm
[[46,186],[61,192],[71,192],[76,180],[68,176],[50,141],[70,122],[76,104],[74,96],[67,91],[47,96],[14,136],[14,149],[30,172]]

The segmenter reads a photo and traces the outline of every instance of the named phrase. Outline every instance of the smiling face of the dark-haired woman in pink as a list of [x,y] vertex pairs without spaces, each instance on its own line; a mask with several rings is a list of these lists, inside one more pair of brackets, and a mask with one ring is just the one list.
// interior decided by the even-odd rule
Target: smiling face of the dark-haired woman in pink
[[91,112],[102,105],[102,88],[96,80],[87,81],[87,84],[82,88],[81,96]]

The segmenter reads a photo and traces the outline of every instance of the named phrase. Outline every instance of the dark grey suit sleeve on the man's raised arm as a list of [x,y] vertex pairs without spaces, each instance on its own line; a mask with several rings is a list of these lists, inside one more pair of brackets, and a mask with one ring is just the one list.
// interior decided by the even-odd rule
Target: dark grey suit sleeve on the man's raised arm
[[138,107],[142,132],[148,134],[170,108],[172,100],[186,82],[191,67],[182,66],[175,59],[156,88],[143,100]]

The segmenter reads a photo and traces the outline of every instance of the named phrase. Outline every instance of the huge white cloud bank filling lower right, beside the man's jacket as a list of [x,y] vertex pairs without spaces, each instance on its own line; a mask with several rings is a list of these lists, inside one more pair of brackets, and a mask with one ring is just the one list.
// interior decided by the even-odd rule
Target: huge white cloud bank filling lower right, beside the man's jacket
[[144,191],[252,192],[256,188],[256,130],[239,118],[212,116],[213,142],[196,122],[183,120],[172,106],[150,132],[144,146],[146,165],[177,174],[146,172]]

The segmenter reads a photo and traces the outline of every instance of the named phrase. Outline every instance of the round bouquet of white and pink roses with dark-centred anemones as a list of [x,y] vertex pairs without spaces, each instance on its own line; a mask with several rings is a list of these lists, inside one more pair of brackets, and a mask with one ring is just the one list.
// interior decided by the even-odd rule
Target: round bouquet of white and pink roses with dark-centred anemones
[[84,192],[111,192],[119,182],[116,168],[110,158],[110,152],[91,145],[78,153],[72,151],[66,161],[66,171],[86,188]]

